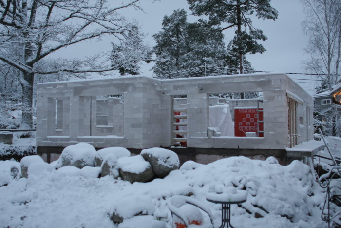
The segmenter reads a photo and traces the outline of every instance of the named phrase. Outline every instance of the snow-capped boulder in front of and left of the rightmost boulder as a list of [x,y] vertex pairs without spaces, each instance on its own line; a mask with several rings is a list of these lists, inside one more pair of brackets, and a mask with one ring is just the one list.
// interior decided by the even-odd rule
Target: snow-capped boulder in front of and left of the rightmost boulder
[[151,164],[146,162],[141,155],[120,158],[117,164],[119,176],[130,183],[148,182],[154,177]]

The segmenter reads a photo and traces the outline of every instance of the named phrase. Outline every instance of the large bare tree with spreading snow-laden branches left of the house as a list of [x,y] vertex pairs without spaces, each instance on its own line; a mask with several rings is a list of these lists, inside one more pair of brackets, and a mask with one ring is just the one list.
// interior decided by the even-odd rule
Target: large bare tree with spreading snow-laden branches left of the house
[[[128,33],[136,25],[129,23],[119,11],[127,7],[140,9],[139,1],[122,0],[113,7],[109,0],[0,0],[0,60],[20,71],[21,127],[32,127],[36,74],[103,73],[117,69],[110,61],[104,61],[103,54],[82,60],[64,59],[51,68],[39,67],[39,62],[62,48],[100,40],[105,35],[119,41],[131,39]],[[17,55],[6,53],[12,46],[17,47]]]

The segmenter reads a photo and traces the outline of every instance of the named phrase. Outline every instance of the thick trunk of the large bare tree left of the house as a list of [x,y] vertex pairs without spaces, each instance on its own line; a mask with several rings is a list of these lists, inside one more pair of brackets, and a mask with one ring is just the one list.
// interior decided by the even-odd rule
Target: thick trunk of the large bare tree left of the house
[[32,98],[34,73],[22,72],[20,80],[22,86],[22,117],[20,128],[33,128]]

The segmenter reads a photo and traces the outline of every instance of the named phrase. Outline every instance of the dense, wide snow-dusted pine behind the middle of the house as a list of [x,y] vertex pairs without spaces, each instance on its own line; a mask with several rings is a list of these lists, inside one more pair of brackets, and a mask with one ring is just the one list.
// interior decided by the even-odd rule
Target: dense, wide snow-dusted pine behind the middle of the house
[[[184,9],[174,10],[162,21],[162,30],[153,35],[156,46],[157,75],[203,66],[225,66],[226,50],[223,34],[210,28],[205,21],[187,22]],[[200,69],[198,69],[200,70]]]

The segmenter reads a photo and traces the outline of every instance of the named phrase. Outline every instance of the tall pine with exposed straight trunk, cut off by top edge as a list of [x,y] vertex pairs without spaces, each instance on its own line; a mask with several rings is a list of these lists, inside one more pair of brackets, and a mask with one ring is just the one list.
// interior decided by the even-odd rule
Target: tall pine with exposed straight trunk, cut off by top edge
[[[208,25],[224,31],[236,28],[233,51],[239,56],[239,70],[244,72],[243,56],[246,53],[263,53],[265,48],[257,40],[265,41],[267,38],[263,31],[256,29],[247,16],[256,14],[261,19],[277,19],[278,12],[270,5],[271,0],[187,0],[194,15],[208,16]],[[221,27],[227,24],[226,27]],[[244,31],[243,31],[244,27]]]

